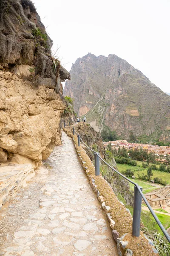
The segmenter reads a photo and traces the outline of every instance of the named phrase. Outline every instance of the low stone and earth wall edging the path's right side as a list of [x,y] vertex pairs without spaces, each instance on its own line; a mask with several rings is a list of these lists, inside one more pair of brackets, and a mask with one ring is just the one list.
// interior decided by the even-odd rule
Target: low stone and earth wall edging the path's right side
[[78,147],[76,135],[73,136],[73,141],[79,161],[108,218],[113,239],[117,242],[119,256],[158,256],[152,241],[142,232],[139,238],[132,236],[132,216],[129,210],[122,202],[119,202],[113,189],[102,175],[95,176],[94,165],[82,146]]

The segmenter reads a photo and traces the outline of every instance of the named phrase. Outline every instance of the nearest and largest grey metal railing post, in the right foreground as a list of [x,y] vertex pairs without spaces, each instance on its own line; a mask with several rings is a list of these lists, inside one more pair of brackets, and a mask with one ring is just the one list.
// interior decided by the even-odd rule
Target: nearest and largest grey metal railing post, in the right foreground
[[[140,186],[142,191],[142,187]],[[139,237],[141,223],[142,196],[136,186],[134,186],[134,201],[133,201],[133,223],[132,235]]]

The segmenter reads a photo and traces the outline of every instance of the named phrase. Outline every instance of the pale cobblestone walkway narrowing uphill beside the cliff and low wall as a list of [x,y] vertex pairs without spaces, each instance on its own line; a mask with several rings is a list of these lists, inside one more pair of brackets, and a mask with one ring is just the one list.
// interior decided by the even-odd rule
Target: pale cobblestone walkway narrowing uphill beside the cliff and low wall
[[0,256],[117,256],[103,210],[62,133],[28,187],[0,212]]

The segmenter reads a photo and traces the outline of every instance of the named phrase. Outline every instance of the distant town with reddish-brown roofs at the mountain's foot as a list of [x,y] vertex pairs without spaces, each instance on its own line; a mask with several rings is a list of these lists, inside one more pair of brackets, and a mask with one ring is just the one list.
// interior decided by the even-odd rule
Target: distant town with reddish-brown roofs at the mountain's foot
[[159,145],[149,145],[142,143],[129,143],[127,140],[115,140],[115,141],[107,141],[103,142],[105,147],[111,143],[112,149],[122,148],[123,146],[130,150],[134,148],[142,148],[148,152],[153,152],[156,155],[156,160],[160,162],[165,161],[166,155],[170,156],[170,147],[169,146],[160,146]]

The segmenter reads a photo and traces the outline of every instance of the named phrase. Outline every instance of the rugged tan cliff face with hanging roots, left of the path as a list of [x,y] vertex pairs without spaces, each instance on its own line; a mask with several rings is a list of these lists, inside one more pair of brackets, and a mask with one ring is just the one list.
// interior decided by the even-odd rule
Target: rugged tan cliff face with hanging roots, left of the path
[[0,162],[38,163],[61,143],[70,74],[30,0],[0,1]]

